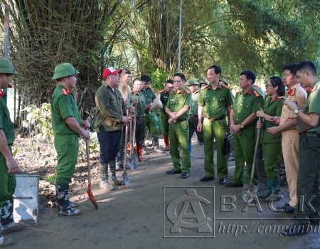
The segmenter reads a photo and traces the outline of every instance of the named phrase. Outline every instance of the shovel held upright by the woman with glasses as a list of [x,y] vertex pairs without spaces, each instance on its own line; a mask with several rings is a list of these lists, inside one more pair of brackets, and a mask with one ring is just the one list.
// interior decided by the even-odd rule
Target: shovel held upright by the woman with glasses
[[[259,117],[259,123],[262,123],[262,117]],[[242,190],[242,200],[245,202],[251,202],[255,196],[257,196],[258,186],[253,185],[253,177],[255,176],[255,162],[257,161],[257,149],[259,147],[261,129],[257,128],[257,141],[255,142],[255,154],[253,154],[252,170],[250,184],[245,184]]]

